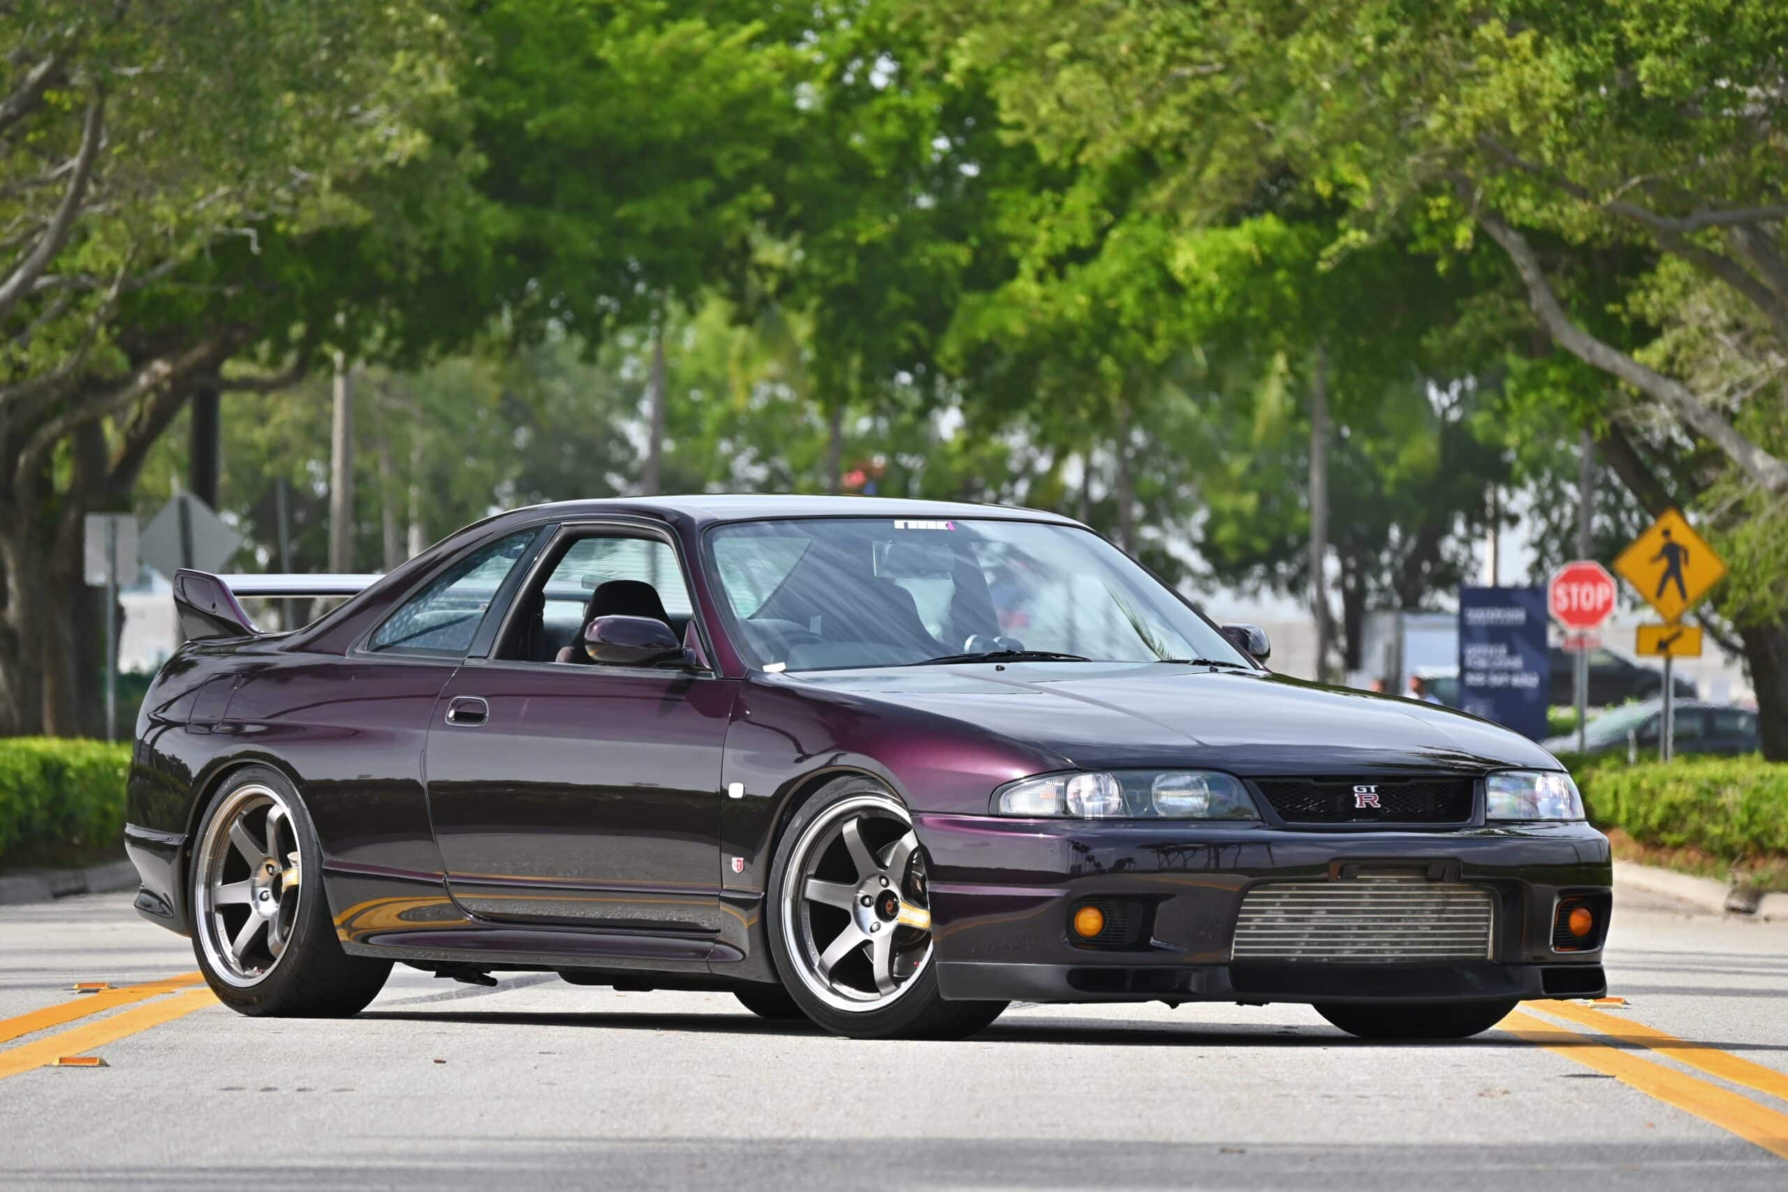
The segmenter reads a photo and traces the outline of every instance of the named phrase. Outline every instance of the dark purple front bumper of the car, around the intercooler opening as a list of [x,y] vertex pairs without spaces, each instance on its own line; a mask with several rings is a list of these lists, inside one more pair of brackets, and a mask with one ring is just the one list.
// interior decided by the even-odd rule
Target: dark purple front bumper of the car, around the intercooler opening
[[[1432,1003],[1606,992],[1600,947],[1552,947],[1561,897],[1607,906],[1607,838],[1586,824],[1296,831],[917,815],[915,826],[930,861],[933,963],[949,999]],[[1362,867],[1488,890],[1489,954],[1377,963],[1232,958],[1236,920],[1253,886],[1346,881]],[[1118,945],[1078,942],[1067,920],[1089,899],[1146,908],[1146,931]]]

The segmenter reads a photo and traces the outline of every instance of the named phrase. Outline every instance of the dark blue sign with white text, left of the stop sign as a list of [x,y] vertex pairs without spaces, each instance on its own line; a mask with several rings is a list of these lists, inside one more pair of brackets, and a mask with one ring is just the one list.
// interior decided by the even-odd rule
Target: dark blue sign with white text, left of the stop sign
[[1548,620],[1545,588],[1459,590],[1459,706],[1464,711],[1536,742],[1547,736]]

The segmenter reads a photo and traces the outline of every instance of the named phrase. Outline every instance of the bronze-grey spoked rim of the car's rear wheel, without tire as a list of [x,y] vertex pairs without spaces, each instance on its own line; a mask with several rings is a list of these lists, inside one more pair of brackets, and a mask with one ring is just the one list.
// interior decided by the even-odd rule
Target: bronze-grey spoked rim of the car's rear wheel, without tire
[[193,865],[200,945],[218,978],[252,986],[291,942],[304,858],[286,797],[238,786],[209,820]]

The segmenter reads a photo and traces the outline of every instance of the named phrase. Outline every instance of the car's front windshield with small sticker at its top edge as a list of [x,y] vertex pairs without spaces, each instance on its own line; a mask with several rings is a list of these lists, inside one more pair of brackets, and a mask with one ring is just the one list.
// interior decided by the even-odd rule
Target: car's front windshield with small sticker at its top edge
[[1116,547],[1039,522],[801,518],[708,534],[753,667],[901,667],[958,654],[1252,663]]

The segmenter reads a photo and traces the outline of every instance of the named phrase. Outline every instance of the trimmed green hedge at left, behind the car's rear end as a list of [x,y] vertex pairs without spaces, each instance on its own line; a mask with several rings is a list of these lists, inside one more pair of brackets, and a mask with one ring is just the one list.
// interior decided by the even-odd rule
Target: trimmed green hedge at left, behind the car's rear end
[[129,745],[0,738],[0,865],[116,844],[129,774]]

